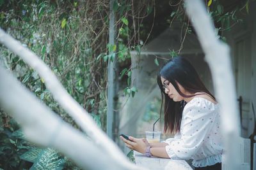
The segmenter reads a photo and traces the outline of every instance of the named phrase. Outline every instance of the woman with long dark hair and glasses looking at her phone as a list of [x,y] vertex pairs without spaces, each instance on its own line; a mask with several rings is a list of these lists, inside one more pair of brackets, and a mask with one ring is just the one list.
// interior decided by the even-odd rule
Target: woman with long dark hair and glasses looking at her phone
[[125,145],[148,157],[193,159],[195,169],[221,169],[219,104],[195,68],[183,57],[175,57],[163,66],[157,83],[164,96],[164,132],[175,137],[163,143],[120,137]]

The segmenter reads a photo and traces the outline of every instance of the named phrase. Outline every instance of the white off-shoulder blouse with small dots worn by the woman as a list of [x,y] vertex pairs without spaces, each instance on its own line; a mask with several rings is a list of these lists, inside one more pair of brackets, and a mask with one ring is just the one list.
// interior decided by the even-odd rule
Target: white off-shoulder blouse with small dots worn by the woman
[[205,167],[221,162],[221,141],[219,104],[194,97],[184,107],[180,132],[164,142],[170,159],[193,159],[193,166]]

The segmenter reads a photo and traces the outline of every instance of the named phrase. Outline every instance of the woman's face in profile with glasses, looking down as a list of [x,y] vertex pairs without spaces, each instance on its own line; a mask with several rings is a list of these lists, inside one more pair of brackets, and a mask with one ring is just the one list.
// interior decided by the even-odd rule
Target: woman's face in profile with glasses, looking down
[[[172,83],[170,83],[168,80],[164,79],[161,76],[161,81],[163,84],[163,90],[164,92],[171,98],[173,99],[173,101],[183,101],[184,97],[180,96],[180,94],[177,92],[177,90],[173,87]],[[184,92],[183,87],[179,84],[178,87],[180,89],[181,92]]]

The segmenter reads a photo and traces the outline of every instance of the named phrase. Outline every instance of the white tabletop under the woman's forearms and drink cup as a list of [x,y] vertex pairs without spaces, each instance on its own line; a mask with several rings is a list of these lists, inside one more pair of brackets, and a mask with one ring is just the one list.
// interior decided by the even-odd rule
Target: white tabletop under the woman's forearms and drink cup
[[146,157],[145,155],[133,152],[136,165],[154,170],[192,170],[192,167],[185,160],[181,159],[163,159],[158,157]]

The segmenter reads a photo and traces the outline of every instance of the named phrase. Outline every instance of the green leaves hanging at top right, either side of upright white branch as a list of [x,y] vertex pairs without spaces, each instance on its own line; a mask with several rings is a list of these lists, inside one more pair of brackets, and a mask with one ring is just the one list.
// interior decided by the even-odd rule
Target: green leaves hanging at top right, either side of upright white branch
[[[225,37],[221,36],[223,31],[230,31],[234,25],[243,22],[243,20],[237,16],[239,14],[244,14],[243,10],[246,10],[248,13],[248,5],[249,1],[244,1],[241,3],[234,3],[233,6],[223,6],[223,1],[220,0],[207,0],[205,1],[205,6],[207,7],[208,14],[214,20],[215,27],[218,31],[216,31],[216,37],[221,41],[225,42]],[[172,27],[172,23],[174,21],[179,21],[182,23],[182,31],[191,34],[193,32],[193,28],[189,18],[186,16],[186,12],[184,9],[184,1],[172,1],[172,11],[170,12],[170,17],[167,22]],[[186,33],[184,34],[184,38],[186,38]],[[194,32],[195,33],[195,32]],[[185,40],[186,41],[186,40]],[[182,47],[182,45],[180,45]],[[177,56],[176,53],[170,53],[171,57]],[[179,51],[180,52],[180,51]]]

